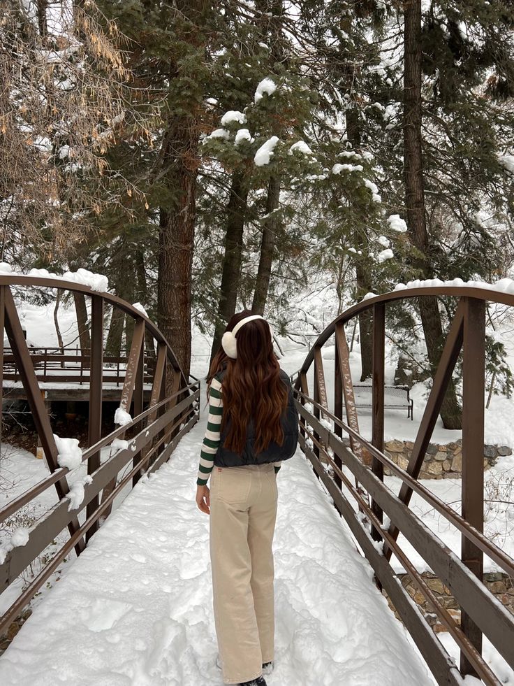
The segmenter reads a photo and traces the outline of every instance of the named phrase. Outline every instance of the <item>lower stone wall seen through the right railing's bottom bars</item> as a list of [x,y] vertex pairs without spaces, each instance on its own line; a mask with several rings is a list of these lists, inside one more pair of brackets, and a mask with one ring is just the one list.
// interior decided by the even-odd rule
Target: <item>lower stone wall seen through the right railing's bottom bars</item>
[[[439,600],[441,605],[448,610],[448,613],[452,615],[456,622],[460,622],[460,608],[455,598],[450,593],[450,589],[446,587],[441,579],[437,578],[435,574],[430,572],[424,572],[423,580],[427,583],[429,589],[434,592],[436,598]],[[411,598],[419,606],[420,610],[425,615],[427,622],[430,626],[438,633],[439,631],[447,631],[446,627],[439,622],[437,615],[434,613],[432,606],[427,602],[425,596],[418,589],[416,582],[414,582],[409,574],[398,574],[399,580],[401,580],[402,585],[406,588],[407,592]],[[514,614],[514,580],[501,572],[491,572],[484,574],[484,583],[488,589],[497,597],[497,599],[504,605],[511,613]],[[386,597],[387,594],[383,592]],[[392,607],[390,600],[388,602]],[[399,619],[398,613],[395,612]]]

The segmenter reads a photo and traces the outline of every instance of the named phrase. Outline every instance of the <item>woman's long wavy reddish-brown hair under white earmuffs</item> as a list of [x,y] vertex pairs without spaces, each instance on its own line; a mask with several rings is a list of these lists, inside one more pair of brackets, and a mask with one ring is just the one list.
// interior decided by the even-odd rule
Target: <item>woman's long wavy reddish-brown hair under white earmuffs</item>
[[[233,315],[226,331],[249,317],[250,310]],[[254,420],[256,452],[262,452],[275,441],[284,443],[280,418],[287,405],[288,393],[281,380],[280,366],[273,352],[270,327],[262,319],[247,322],[237,331],[237,358],[232,359],[220,347],[212,359],[207,384],[226,366],[223,377],[223,431],[230,420],[224,447],[241,453],[247,439],[247,425]],[[207,390],[208,392],[208,390]]]

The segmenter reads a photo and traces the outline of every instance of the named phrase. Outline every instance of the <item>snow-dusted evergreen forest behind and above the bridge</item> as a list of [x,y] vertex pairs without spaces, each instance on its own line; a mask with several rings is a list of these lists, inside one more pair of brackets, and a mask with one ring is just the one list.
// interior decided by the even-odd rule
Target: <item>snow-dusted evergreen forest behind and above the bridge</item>
[[[511,275],[511,0],[0,0],[0,17],[1,261],[105,274],[186,375],[191,326],[216,350],[240,308],[301,342],[319,327],[300,292],[331,290],[337,315],[413,279]],[[389,308],[411,380],[454,307]],[[128,347],[129,317],[105,335]],[[358,335],[365,379],[366,314]],[[488,336],[494,392],[505,356]],[[457,370],[447,428],[459,395]]]

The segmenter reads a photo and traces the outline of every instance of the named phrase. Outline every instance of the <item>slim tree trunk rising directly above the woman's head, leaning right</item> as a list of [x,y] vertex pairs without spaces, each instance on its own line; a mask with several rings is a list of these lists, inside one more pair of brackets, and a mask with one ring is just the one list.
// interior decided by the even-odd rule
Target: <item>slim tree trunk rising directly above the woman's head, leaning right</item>
[[260,259],[257,272],[254,302],[251,310],[256,315],[263,315],[267,300],[267,291],[270,287],[271,267],[273,253],[277,243],[277,231],[279,228],[278,213],[280,201],[280,176],[273,175],[267,185],[266,218],[263,223],[263,240],[260,244]]

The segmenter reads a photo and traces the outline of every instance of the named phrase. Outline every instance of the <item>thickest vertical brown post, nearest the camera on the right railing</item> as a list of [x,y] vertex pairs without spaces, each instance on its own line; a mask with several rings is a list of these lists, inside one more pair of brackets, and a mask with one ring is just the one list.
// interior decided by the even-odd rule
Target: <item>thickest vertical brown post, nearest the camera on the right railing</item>
[[[483,531],[484,522],[484,392],[485,302],[464,298],[462,367],[462,517]],[[483,580],[483,552],[462,536],[462,562]],[[478,652],[482,632],[461,609],[461,628]],[[476,675],[468,659],[460,655],[462,674]]]

